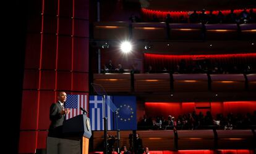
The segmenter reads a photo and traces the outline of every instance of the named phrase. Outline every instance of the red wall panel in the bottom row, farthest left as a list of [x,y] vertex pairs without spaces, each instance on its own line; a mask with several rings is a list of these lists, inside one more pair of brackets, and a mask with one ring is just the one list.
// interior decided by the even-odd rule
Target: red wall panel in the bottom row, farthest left
[[35,131],[20,132],[19,153],[35,153],[36,133]]

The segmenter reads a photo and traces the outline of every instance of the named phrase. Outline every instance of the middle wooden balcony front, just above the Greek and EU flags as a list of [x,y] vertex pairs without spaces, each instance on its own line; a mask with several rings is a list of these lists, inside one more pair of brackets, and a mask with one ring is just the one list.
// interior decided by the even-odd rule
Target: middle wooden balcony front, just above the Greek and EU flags
[[94,74],[108,94],[136,95],[143,101],[255,100],[256,74]]

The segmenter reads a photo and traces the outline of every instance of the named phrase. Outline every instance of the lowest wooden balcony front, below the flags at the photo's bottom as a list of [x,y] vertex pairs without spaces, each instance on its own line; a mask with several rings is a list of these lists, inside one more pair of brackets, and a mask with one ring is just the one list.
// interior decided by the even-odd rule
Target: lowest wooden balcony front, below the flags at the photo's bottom
[[[109,131],[115,136],[116,131]],[[143,147],[150,150],[213,150],[213,149],[254,149],[255,130],[163,130],[137,131],[143,141]],[[129,134],[132,131],[120,132],[119,146],[129,147]],[[103,147],[103,131],[93,132],[93,151]],[[116,144],[116,143],[115,143]],[[115,145],[114,145],[115,146]]]

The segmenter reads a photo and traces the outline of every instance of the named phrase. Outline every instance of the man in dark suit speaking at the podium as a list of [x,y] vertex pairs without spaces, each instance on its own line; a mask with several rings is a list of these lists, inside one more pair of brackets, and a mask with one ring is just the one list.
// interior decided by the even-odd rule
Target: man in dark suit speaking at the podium
[[66,99],[66,92],[59,92],[58,102],[51,104],[49,111],[51,124],[49,126],[48,136],[62,137],[62,125],[65,120],[65,115],[70,112],[69,108],[64,108]]

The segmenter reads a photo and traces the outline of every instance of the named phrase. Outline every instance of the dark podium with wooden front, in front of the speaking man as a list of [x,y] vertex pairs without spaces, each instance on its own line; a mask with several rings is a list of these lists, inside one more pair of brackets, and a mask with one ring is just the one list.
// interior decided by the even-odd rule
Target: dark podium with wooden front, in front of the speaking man
[[89,139],[92,136],[90,119],[85,115],[78,115],[64,121],[63,137],[47,137],[46,152],[88,154]]

